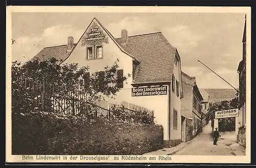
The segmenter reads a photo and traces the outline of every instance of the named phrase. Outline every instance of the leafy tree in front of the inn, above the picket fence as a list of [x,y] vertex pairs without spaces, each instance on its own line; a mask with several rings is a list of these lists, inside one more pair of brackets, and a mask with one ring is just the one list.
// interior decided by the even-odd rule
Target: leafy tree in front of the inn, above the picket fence
[[[32,103],[37,98],[34,83],[40,87],[40,98],[44,103],[47,95],[58,102],[58,98],[69,100],[78,99],[80,113],[89,114],[94,110],[92,100],[102,96],[113,97],[121,89],[120,83],[127,78],[118,76],[118,60],[111,67],[105,67],[102,72],[89,74],[88,67],[78,67],[78,64],[58,65],[57,59],[44,61],[28,61],[24,65],[12,62],[12,109],[13,111],[29,111],[33,109]],[[129,74],[128,74],[129,75]],[[129,75],[130,76],[130,75]],[[32,85],[33,83],[33,85]],[[81,96],[82,95],[82,96]],[[48,97],[49,98],[49,97]],[[44,107],[44,106],[43,106]],[[62,107],[61,107],[62,108]],[[62,111],[65,112],[65,108]]]

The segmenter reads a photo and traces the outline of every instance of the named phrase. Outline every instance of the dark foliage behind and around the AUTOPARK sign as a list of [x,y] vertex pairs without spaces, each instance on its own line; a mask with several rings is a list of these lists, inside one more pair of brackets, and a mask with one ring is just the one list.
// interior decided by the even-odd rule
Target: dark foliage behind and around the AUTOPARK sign
[[[233,98],[230,101],[224,100],[217,103],[212,103],[206,113],[206,119],[211,120],[211,127],[214,127],[215,111],[236,109],[238,108],[238,97]],[[219,119],[219,131],[234,131],[236,125],[236,118],[220,118]]]

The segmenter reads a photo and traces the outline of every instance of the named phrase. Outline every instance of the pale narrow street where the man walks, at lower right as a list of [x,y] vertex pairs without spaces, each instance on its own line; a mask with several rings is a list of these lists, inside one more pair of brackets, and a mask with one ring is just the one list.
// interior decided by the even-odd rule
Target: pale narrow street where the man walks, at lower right
[[[214,145],[211,137],[210,123],[205,125],[203,132],[193,140],[186,143],[185,147],[173,155],[236,155],[233,153],[231,144],[235,143],[234,134],[221,135],[217,144]],[[240,152],[243,154],[243,152]]]

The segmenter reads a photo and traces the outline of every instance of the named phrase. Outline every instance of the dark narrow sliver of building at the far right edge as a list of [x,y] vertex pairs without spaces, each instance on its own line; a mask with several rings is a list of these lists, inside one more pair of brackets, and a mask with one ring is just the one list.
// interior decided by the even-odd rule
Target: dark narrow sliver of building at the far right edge
[[243,59],[239,63],[239,113],[238,113],[238,143],[246,146],[246,15],[243,35]]

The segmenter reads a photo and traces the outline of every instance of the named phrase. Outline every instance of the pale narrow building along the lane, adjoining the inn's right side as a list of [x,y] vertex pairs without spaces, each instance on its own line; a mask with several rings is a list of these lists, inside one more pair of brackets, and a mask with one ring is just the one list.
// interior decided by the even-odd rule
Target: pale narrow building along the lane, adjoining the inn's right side
[[[196,78],[182,72],[183,98],[181,99],[182,141],[194,138],[202,129],[202,95],[197,87]],[[191,122],[187,122],[191,120]],[[189,129],[190,131],[187,131]]]

